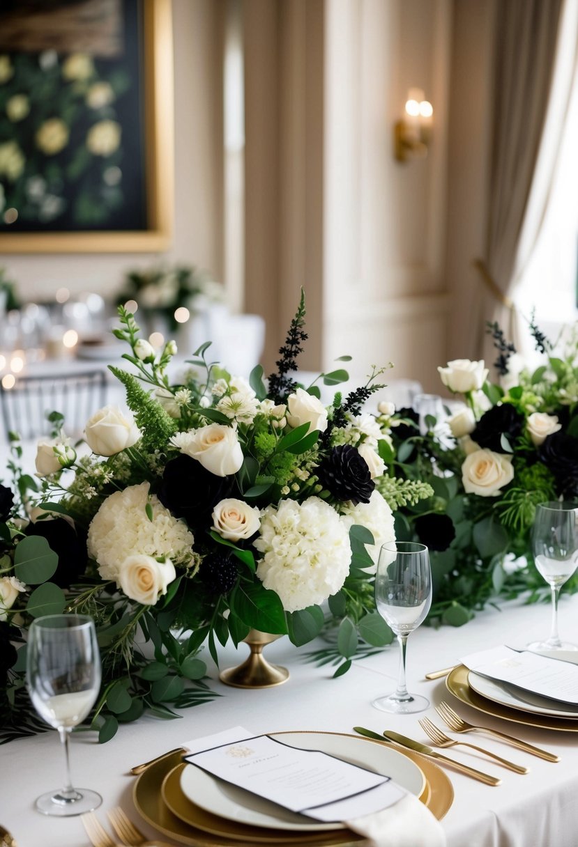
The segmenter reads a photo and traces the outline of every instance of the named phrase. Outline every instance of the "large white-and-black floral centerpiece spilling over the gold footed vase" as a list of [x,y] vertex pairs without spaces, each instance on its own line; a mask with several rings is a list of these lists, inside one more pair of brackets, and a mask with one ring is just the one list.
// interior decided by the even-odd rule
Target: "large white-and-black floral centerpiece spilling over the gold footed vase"
[[[130,346],[130,369],[111,370],[134,419],[97,412],[86,423],[92,452],[79,457],[53,415],[55,437],[36,455],[41,483],[16,479],[19,508],[8,486],[0,492],[0,637],[18,645],[31,617],[47,612],[92,614],[104,680],[92,726],[102,740],[145,708],[172,717],[170,706],[212,696],[203,644],[215,662],[219,644],[237,645],[250,628],[306,644],[325,624],[325,601],[341,622],[336,673],[358,639],[389,643],[373,574],[395,537],[390,503],[431,494],[385,473],[392,407],[362,409],[382,369],[329,407],[317,385],[292,378],[307,337],[303,296],[267,385],[260,366],[247,382],[209,363],[208,344],[172,384],[175,343],[155,353],[133,315],[119,315],[114,335]],[[338,385],[347,372],[320,379]],[[4,724],[24,731],[23,652],[3,656]]]

